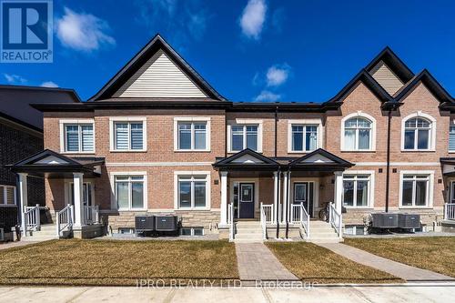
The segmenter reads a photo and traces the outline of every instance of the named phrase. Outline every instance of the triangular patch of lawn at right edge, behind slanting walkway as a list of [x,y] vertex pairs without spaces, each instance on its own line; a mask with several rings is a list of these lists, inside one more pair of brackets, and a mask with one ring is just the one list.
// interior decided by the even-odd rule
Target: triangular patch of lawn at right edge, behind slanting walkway
[[455,277],[455,237],[345,238],[383,258]]

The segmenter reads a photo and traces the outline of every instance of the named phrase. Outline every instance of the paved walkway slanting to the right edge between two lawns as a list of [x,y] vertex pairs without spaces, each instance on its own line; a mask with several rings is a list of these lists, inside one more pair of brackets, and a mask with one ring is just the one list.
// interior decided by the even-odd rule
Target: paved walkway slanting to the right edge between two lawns
[[318,245],[328,248],[340,256],[349,258],[359,264],[388,272],[389,274],[402,278],[408,282],[455,281],[455,278],[444,276],[427,269],[414,268],[406,264],[392,261],[388,258],[370,254],[369,252],[356,247],[349,247],[342,243],[324,243]]

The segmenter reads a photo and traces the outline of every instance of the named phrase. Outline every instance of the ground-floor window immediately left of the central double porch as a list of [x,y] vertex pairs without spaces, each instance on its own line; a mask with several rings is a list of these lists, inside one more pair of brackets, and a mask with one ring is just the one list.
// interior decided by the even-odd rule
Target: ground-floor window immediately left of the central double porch
[[178,208],[207,207],[207,176],[178,176]]

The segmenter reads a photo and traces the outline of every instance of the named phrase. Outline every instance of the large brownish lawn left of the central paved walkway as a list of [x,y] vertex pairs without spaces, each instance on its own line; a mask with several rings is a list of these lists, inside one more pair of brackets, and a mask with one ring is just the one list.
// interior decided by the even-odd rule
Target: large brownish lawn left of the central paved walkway
[[227,241],[53,240],[0,250],[0,260],[4,285],[136,286],[137,279],[238,278],[236,249]]

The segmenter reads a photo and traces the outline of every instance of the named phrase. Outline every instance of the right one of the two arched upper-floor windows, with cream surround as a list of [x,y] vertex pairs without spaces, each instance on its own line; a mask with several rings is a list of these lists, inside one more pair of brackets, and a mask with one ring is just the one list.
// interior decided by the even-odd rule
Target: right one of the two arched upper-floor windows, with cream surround
[[403,119],[402,146],[403,150],[434,149],[435,124],[431,116],[417,114]]

